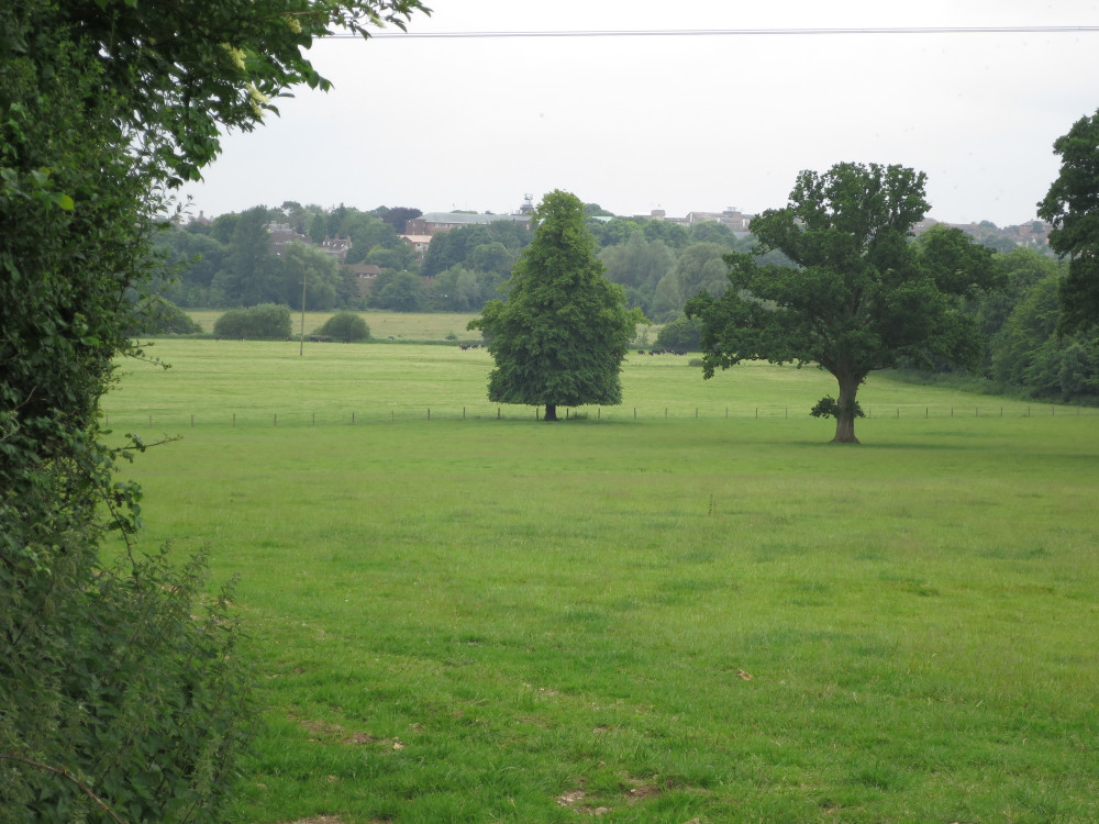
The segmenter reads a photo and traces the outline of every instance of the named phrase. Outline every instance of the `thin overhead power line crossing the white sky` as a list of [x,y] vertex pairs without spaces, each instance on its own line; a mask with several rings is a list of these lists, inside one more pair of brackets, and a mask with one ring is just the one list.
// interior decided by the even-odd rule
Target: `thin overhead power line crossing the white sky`
[[[1099,25],[885,26],[852,29],[654,29],[574,30],[556,32],[378,32],[371,40],[499,40],[519,37],[757,37],[847,34],[1095,34]],[[357,38],[357,34],[333,34]]]

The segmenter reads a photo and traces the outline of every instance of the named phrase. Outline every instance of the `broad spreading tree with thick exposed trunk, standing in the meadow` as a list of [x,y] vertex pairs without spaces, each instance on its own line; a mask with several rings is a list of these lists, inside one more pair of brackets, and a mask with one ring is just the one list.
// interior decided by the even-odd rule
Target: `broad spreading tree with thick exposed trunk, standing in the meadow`
[[975,363],[980,338],[962,300],[993,285],[992,253],[953,229],[911,242],[929,209],[925,180],[877,164],[802,171],[788,204],[751,224],[757,253],[777,249],[793,266],[731,253],[731,288],[687,304],[703,321],[704,376],[756,358],[818,365],[840,391],[814,414],[836,417],[835,443],[858,443],[855,396],[869,372],[901,359]]

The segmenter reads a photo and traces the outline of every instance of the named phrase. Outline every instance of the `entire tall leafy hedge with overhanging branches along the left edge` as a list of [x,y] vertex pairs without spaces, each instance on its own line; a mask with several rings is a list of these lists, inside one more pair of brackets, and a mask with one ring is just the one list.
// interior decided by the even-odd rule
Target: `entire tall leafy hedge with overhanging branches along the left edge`
[[[418,0],[21,0],[0,4],[0,811],[4,821],[219,821],[249,714],[224,601],[199,557],[133,555],[143,449],[102,443],[116,359],[136,356],[165,192],[254,127],[330,27],[403,25]],[[264,286],[262,216],[241,293]],[[243,249],[243,250],[242,250]],[[193,253],[191,253],[193,254]],[[214,289],[214,280],[210,289]],[[280,308],[282,313],[285,308]],[[166,314],[164,315],[167,316]],[[289,325],[285,327],[289,333]],[[126,553],[106,565],[120,532]],[[99,801],[97,801],[99,799]],[[107,810],[110,812],[107,812]],[[121,817],[120,817],[121,816]]]

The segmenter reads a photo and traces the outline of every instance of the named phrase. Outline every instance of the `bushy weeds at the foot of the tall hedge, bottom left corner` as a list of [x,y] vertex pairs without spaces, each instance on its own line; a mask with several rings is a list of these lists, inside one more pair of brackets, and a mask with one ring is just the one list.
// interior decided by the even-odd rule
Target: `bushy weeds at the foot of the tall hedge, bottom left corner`
[[95,799],[131,822],[209,821],[232,798],[254,715],[232,593],[203,603],[206,556],[168,557],[102,569],[55,550],[4,570],[4,821],[82,820]]

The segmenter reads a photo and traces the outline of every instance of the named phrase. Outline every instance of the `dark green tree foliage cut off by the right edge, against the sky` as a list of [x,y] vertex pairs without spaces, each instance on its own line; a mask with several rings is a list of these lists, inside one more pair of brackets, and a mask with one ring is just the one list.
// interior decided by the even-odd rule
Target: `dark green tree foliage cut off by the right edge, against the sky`
[[1090,331],[1099,325],[1099,112],[1076,121],[1053,152],[1061,156],[1061,172],[1037,213],[1054,226],[1050,246],[1069,257],[1062,327]]

